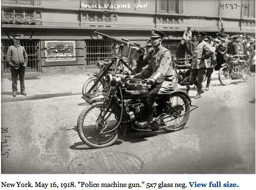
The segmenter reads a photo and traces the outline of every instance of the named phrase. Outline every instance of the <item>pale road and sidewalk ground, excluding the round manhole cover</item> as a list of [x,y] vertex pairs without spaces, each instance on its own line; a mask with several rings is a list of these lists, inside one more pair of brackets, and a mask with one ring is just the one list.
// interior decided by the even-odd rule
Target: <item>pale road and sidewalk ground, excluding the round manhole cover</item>
[[[27,96],[15,98],[11,81],[2,78],[1,126],[8,129],[1,134],[8,145],[3,147],[8,157],[1,156],[2,173],[68,174],[75,158],[95,151],[77,132],[77,119],[86,108],[81,98],[86,77],[39,76],[25,81]],[[184,129],[128,133],[96,151],[134,154],[143,160],[144,174],[254,174],[255,75],[249,82],[223,86],[215,71],[210,90],[199,99],[195,95],[192,88],[189,96],[199,108]],[[237,167],[245,164],[250,167]]]

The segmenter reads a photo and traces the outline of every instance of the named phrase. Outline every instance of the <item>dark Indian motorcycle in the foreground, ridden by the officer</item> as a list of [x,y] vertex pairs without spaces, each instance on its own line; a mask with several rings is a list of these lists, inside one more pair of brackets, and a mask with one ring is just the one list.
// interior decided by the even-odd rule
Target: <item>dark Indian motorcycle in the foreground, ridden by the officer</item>
[[[108,66],[116,59],[120,58],[115,57]],[[120,61],[123,62],[122,59]],[[135,121],[141,122],[147,117],[147,98],[153,86],[116,72],[107,74],[104,84],[104,95],[83,97],[89,106],[83,109],[77,123],[80,138],[92,148],[112,145],[127,130],[180,130],[187,123],[190,112],[198,107],[191,105],[186,91],[173,89],[161,94],[157,100],[151,127],[141,129]]]

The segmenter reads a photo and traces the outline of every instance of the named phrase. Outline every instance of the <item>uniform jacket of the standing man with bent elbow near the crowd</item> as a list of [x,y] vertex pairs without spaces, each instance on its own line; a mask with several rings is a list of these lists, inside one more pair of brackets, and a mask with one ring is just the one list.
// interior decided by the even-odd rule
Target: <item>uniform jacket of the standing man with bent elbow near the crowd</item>
[[214,54],[213,49],[205,41],[199,42],[195,51],[193,52],[191,68],[206,68],[206,59],[210,58]]

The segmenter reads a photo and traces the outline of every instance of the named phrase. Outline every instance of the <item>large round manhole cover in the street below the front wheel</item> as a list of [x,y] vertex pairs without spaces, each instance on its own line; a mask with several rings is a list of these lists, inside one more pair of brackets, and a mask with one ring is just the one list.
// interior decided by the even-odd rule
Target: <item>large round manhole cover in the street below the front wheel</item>
[[80,155],[69,165],[72,174],[138,174],[144,162],[126,152],[93,151]]

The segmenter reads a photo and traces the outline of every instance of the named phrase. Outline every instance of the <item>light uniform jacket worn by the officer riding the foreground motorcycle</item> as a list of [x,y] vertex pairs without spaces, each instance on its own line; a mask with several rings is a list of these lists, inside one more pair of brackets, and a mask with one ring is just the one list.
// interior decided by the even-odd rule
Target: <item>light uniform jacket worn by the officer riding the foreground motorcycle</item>
[[[146,60],[141,61],[139,59],[138,62],[147,62]],[[158,49],[156,49],[151,56],[149,61],[149,65],[146,69],[142,71],[143,78],[149,78],[155,72],[161,72],[165,76],[165,81],[161,84],[166,88],[173,88],[173,84],[175,80],[175,73],[171,67],[171,53],[168,49],[160,45]],[[173,84],[171,83],[173,81]],[[176,81],[175,81],[176,82]]]

